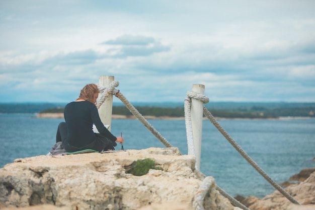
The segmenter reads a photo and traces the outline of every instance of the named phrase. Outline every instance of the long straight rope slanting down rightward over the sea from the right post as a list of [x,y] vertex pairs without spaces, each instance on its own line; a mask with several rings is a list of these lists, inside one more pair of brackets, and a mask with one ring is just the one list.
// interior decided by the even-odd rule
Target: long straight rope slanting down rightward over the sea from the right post
[[300,204],[297,200],[295,200],[289,193],[287,193],[279,184],[277,184],[273,179],[271,179],[266,172],[261,169],[258,164],[249,156],[247,153],[233,140],[233,138],[224,130],[224,128],[215,120],[212,114],[203,107],[203,114],[212,122],[212,124],[220,131],[220,133],[226,138],[226,140],[233,146],[235,150],[237,150],[240,155],[245,158],[245,160],[253,166],[253,168],[262,175],[274,188],[276,188],[282,195],[284,195],[288,200],[292,203]]

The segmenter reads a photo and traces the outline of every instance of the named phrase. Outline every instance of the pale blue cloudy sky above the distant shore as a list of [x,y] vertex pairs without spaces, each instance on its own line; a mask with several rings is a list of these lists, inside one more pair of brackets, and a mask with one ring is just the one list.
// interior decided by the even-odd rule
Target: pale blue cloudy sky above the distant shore
[[315,102],[315,1],[0,0],[0,102]]

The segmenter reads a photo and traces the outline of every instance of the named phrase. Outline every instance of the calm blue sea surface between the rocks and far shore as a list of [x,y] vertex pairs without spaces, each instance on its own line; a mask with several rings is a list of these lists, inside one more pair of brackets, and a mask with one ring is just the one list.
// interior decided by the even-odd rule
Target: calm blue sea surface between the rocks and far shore
[[[63,119],[34,114],[0,114],[0,167],[17,158],[46,155]],[[182,154],[187,154],[184,120],[148,120]],[[315,119],[218,120],[229,135],[277,183],[315,167]],[[113,119],[111,131],[124,149],[164,148],[138,120]],[[119,146],[118,146],[119,147]],[[120,148],[118,148],[120,149]],[[275,189],[256,172],[208,120],[203,121],[201,172],[231,196],[263,197]]]

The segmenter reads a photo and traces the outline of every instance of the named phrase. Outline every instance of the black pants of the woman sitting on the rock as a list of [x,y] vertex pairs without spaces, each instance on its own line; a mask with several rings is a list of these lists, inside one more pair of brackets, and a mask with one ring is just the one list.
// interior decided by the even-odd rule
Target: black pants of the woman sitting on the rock
[[112,141],[110,141],[110,139],[101,135],[100,133],[94,133],[94,134],[96,138],[95,138],[95,141],[92,142],[91,144],[84,146],[82,148],[73,147],[67,142],[67,126],[65,122],[60,122],[58,125],[57,134],[56,134],[56,143],[62,142],[62,145],[65,151],[70,152],[70,153],[86,150],[86,149],[92,149],[99,152],[101,152],[102,150],[104,151],[115,150],[113,143]]

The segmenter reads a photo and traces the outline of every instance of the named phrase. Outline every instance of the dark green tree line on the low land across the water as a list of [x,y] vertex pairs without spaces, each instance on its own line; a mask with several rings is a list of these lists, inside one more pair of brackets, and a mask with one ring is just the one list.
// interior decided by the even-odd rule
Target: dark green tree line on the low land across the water
[[[135,107],[142,115],[156,117],[184,117],[184,107]],[[267,109],[264,107],[253,106],[251,108],[237,109],[208,109],[214,117],[226,118],[277,118],[284,117],[315,117],[315,107],[283,107]],[[62,113],[63,108],[50,108],[42,111],[43,113]],[[112,114],[130,116],[132,113],[125,106],[113,106]]]

